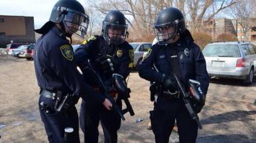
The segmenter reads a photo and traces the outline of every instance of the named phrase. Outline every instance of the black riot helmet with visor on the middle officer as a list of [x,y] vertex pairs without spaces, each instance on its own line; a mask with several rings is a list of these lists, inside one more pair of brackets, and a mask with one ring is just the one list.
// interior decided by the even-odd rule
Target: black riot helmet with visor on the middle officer
[[109,43],[121,44],[128,34],[125,16],[120,11],[110,11],[103,20],[102,35]]

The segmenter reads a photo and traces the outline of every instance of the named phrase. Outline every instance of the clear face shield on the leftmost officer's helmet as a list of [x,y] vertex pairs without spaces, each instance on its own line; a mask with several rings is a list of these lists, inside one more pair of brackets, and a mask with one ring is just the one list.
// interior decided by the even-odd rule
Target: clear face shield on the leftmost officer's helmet
[[84,38],[89,24],[89,16],[72,9],[65,11],[63,22],[68,33]]

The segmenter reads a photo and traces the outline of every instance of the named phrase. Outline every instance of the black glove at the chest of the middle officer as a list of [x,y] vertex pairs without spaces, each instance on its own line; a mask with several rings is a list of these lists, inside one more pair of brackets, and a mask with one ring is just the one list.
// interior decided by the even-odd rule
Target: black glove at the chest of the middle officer
[[102,55],[101,57],[96,59],[96,64],[101,67],[103,72],[113,72],[115,71],[113,67],[113,63],[109,57]]

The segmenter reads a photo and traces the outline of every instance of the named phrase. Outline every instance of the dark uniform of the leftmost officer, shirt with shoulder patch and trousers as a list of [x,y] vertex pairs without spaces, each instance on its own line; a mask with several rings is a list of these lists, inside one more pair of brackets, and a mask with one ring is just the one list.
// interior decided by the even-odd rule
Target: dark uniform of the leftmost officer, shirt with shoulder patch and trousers
[[[49,142],[64,142],[66,127],[74,129],[74,142],[80,142],[75,104],[78,96],[84,100],[92,100],[92,97],[86,95],[96,93],[82,80],[82,75],[76,69],[72,46],[57,26],[52,27],[36,42],[34,69],[40,87],[40,117]],[[54,94],[57,92],[75,95],[70,107],[62,112],[54,110]]]

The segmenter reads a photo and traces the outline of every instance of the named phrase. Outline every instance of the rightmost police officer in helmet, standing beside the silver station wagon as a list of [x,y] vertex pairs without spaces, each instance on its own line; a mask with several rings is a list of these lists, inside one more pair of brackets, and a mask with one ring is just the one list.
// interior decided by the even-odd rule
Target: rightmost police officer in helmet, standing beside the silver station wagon
[[[194,143],[198,125],[190,118],[171,73],[177,74],[186,89],[189,79],[198,80],[206,95],[209,76],[204,56],[200,47],[193,42],[186,29],[184,16],[178,9],[160,11],[154,30],[158,43],[145,55],[139,67],[139,76],[160,85],[155,96],[154,110],[150,111],[155,141],[168,142],[176,119],[180,143]],[[154,65],[159,72],[153,69]]]

